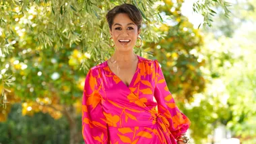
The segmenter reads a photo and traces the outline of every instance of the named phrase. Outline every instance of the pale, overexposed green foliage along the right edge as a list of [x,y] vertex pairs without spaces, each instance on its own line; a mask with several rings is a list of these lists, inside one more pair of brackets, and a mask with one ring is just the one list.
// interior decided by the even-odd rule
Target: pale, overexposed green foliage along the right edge
[[[214,28],[203,30],[201,55],[206,65],[202,72],[209,82],[205,91],[196,94],[194,102],[186,106],[189,118],[197,119],[192,127],[207,126],[204,131],[194,131],[197,143],[200,134],[206,137],[212,133],[213,137],[213,130],[219,125],[224,125],[242,143],[256,141],[255,2],[234,2],[230,9],[234,15],[229,20],[217,15],[212,23]],[[205,139],[201,143],[213,141]]]

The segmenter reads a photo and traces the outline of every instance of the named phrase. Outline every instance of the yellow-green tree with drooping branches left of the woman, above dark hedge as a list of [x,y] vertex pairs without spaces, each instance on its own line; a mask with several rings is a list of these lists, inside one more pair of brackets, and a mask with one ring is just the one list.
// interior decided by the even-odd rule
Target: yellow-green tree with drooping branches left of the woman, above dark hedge
[[84,78],[113,52],[104,17],[123,2],[143,13],[143,40],[158,40],[152,25],[160,22],[155,1],[0,1],[1,104],[7,106],[0,108],[0,120],[21,102],[22,116],[64,116],[69,143],[79,143]]

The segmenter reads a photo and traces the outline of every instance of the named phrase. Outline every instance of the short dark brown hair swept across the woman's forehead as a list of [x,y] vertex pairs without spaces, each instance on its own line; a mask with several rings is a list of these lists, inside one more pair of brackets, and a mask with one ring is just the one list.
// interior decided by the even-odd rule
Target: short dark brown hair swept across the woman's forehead
[[126,13],[131,19],[131,21],[133,21],[134,24],[137,25],[138,30],[139,28],[141,28],[142,16],[141,13],[139,12],[139,9],[137,9],[137,7],[135,7],[134,5],[124,3],[122,5],[114,7],[106,14],[106,20],[108,21],[108,26],[110,30],[113,25],[115,16],[119,13]]

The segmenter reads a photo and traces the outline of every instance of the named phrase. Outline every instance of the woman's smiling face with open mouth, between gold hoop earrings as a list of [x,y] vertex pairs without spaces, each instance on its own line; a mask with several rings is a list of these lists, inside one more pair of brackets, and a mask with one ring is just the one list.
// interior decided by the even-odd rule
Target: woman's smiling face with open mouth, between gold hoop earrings
[[119,13],[113,20],[110,34],[114,40],[115,47],[119,51],[130,51],[136,44],[138,31],[137,25],[126,13]]

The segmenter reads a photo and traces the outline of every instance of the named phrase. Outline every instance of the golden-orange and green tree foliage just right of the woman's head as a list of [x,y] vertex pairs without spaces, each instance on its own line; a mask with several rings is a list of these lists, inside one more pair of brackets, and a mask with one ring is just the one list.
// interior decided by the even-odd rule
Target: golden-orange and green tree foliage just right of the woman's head
[[164,2],[165,5],[158,9],[164,17],[164,23],[158,26],[163,38],[159,42],[148,42],[145,47],[152,52],[153,59],[160,61],[175,100],[184,104],[193,101],[193,94],[202,92],[205,86],[200,70],[205,63],[199,48],[203,38],[199,30],[193,28],[193,24],[181,14],[183,1]]

